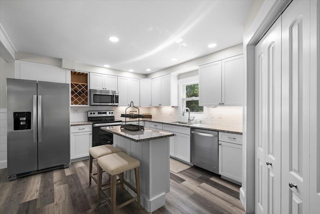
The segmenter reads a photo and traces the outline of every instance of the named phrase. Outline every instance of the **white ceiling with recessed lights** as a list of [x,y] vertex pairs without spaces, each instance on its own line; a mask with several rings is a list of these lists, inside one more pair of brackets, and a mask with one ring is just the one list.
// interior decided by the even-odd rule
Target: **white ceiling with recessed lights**
[[[0,24],[18,52],[148,74],[241,43],[251,5],[252,0],[0,0]],[[175,42],[179,38],[186,47]],[[209,49],[210,43],[217,46]]]

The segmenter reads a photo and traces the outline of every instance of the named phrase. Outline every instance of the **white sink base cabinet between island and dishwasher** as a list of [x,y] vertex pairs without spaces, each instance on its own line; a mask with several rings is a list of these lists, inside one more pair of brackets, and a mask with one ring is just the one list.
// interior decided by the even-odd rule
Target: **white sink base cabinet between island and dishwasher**
[[170,156],[190,163],[190,128],[164,124],[163,130],[174,134],[170,137]]

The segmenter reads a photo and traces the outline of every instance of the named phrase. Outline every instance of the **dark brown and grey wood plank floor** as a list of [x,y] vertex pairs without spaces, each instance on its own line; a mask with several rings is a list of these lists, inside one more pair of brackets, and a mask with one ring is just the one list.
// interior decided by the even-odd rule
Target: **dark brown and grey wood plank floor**
[[[83,160],[66,169],[7,181],[6,169],[0,169],[0,213],[110,213],[103,199],[97,201],[94,181],[89,186],[88,171],[89,160]],[[108,176],[103,174],[106,181]],[[239,187],[197,167],[170,172],[166,204],[153,213],[245,213]],[[117,189],[117,203],[129,197]],[[137,210],[133,202],[117,213],[147,212],[143,207]]]

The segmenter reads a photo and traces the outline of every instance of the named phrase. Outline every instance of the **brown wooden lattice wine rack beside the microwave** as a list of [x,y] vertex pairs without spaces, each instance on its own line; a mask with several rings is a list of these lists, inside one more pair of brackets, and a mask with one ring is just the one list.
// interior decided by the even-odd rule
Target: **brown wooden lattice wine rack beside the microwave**
[[88,74],[71,71],[71,105],[88,105]]

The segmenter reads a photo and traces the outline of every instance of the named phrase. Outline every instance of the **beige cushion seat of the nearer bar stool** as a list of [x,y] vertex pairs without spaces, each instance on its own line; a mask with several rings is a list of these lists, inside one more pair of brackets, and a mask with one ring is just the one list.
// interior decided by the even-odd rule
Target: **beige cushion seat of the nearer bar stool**
[[98,165],[110,175],[116,175],[140,166],[140,161],[123,152],[117,152],[99,157]]

